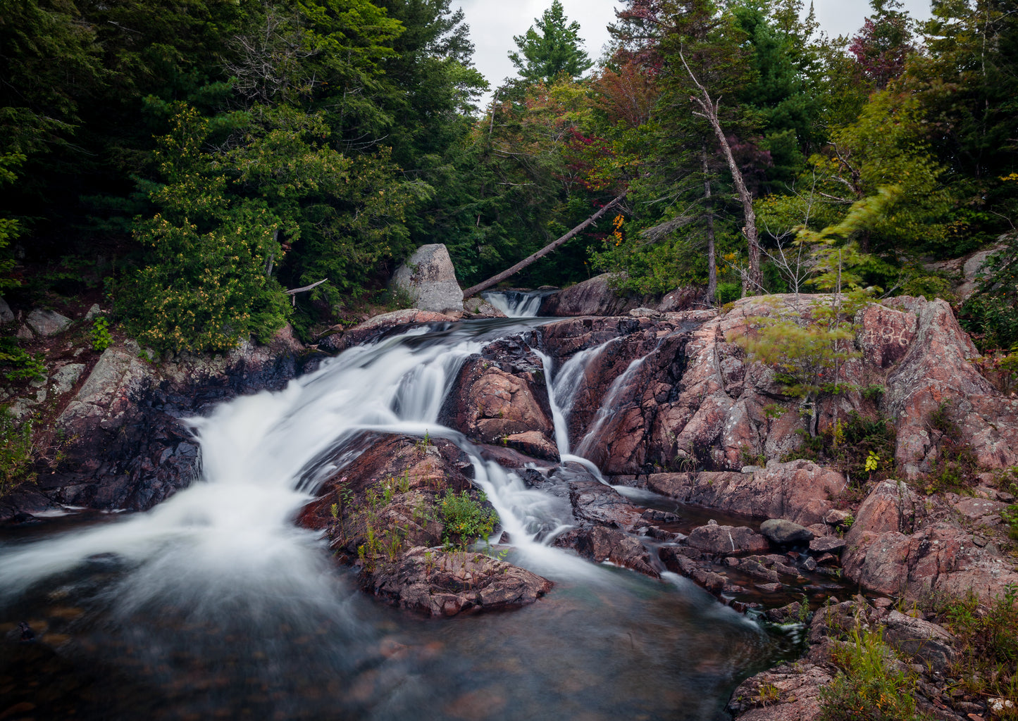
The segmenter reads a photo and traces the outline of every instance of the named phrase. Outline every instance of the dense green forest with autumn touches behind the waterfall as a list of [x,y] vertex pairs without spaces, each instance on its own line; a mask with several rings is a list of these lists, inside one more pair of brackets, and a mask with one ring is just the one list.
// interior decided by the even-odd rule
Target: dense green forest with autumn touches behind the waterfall
[[[950,297],[1018,218],[1018,6],[628,0],[592,58],[555,0],[489,91],[450,0],[3,0],[0,292],[101,291],[159,351],[312,339],[418,245],[472,285]],[[582,18],[579,18],[582,19]],[[1018,344],[1016,245],[959,308]],[[817,268],[822,271],[817,273]],[[287,294],[324,281],[313,290]],[[464,287],[465,287],[464,285]],[[12,333],[12,331],[11,331]],[[13,336],[0,363],[26,362]]]

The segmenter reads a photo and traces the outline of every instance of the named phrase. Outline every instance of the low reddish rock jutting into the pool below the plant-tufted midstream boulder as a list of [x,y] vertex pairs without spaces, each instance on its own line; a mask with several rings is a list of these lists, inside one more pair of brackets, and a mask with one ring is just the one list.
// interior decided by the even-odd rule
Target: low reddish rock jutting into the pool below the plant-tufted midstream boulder
[[453,616],[533,603],[552,582],[480,553],[415,547],[365,576],[363,586],[401,608]]

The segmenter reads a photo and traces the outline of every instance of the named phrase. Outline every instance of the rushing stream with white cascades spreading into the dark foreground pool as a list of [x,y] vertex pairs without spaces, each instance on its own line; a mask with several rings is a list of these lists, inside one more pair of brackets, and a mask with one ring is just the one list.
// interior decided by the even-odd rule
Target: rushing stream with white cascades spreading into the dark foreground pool
[[[674,575],[551,547],[568,503],[437,421],[466,357],[541,322],[465,321],[353,348],[279,393],[191,419],[202,476],[150,512],[0,530],[0,718],[726,718],[735,683],[787,654],[788,639]],[[552,369],[563,454],[592,355]],[[293,519],[365,430],[445,436],[470,454],[513,540],[508,560],[552,592],[451,620],[363,596]],[[20,621],[35,643],[16,643]]]

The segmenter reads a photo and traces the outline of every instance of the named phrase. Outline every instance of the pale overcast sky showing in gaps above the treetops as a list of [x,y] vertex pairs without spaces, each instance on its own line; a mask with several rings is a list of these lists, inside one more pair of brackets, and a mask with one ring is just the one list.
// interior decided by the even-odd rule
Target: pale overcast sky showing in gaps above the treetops
[[[453,7],[462,7],[470,25],[470,38],[476,48],[473,62],[492,87],[502,84],[505,77],[516,74],[507,54],[516,50],[513,36],[523,35],[533,20],[552,4],[552,0],[453,0]],[[929,0],[904,0],[912,17],[929,17]],[[608,23],[615,19],[615,8],[623,7],[615,0],[562,0],[566,17],[578,20],[580,37],[591,59],[601,57],[608,42]],[[816,19],[828,35],[854,34],[862,26],[869,11],[867,0],[814,0]],[[489,94],[482,107],[490,100]]]

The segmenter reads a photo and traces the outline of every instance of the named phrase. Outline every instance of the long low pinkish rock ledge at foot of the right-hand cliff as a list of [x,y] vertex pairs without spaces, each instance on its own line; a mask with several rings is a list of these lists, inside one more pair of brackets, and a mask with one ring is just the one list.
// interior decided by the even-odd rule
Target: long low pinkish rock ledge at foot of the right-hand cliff
[[798,524],[823,521],[832,505],[828,498],[845,486],[840,473],[809,461],[771,461],[752,474],[659,473],[646,478],[647,488],[683,503]]

